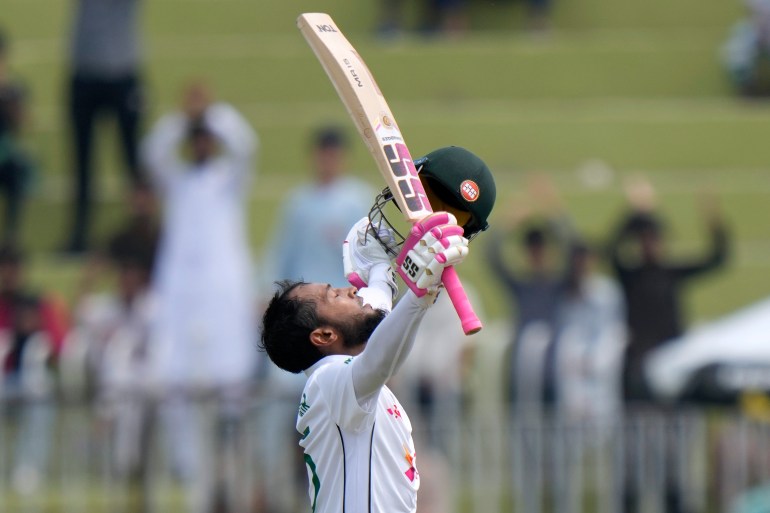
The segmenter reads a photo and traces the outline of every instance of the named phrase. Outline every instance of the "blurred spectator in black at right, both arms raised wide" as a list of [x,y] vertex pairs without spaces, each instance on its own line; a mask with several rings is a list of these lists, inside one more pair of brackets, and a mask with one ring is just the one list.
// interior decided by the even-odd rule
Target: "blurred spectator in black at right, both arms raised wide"
[[670,259],[665,253],[665,225],[655,212],[655,191],[651,184],[646,180],[630,181],[626,194],[629,211],[620,219],[608,251],[627,307],[629,345],[623,372],[625,398],[648,401],[651,396],[643,376],[645,356],[651,349],[682,334],[684,287],[692,278],[725,264],[729,237],[714,198],[704,195],[701,215],[708,230],[709,249],[699,257]]

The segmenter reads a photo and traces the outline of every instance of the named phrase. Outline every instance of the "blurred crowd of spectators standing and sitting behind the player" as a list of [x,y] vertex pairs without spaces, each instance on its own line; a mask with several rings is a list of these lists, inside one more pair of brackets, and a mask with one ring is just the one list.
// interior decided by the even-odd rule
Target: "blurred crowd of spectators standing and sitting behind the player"
[[[57,402],[74,400],[97,412],[112,440],[113,471],[121,475],[141,474],[147,425],[162,425],[172,434],[173,474],[191,483],[191,510],[208,511],[216,497],[216,483],[203,481],[211,459],[221,454],[217,444],[238,433],[255,389],[280,391],[261,426],[273,470],[265,486],[302,479],[287,454],[296,447],[292,427],[304,379],[264,365],[259,315],[276,279],[344,284],[341,241],[368,214],[376,191],[348,172],[346,131],[320,127],[308,138],[307,181],[286,196],[267,250],[254,254],[247,201],[257,179],[258,134],[201,81],[187,84],[179,108],[143,132],[138,3],[80,0],[74,15],[68,119],[75,187],[61,250],[84,266],[71,304],[31,288],[25,274],[28,255],[18,232],[36,171],[21,141],[25,88],[9,71],[9,43],[0,35],[0,393],[18,426],[17,491],[32,492],[44,478]],[[402,28],[402,3],[383,1],[384,33]],[[544,27],[549,2],[529,3],[533,27]],[[426,29],[463,30],[464,7],[426,2]],[[741,30],[745,36],[748,28]],[[758,25],[752,37],[763,30]],[[747,76],[739,68],[736,76]],[[95,240],[92,160],[105,116],[116,121],[126,209],[121,224]],[[716,198],[701,198],[705,249],[676,260],[667,253],[669,224],[655,189],[642,178],[627,184],[615,226],[593,239],[581,233],[546,176],[533,176],[528,187],[523,201],[499,207],[496,226],[472,245],[482,255],[476,262],[508,299],[501,407],[514,418],[544,408],[567,423],[611,421],[629,405],[661,408],[645,380],[645,359],[688,327],[683,294],[690,282],[728,261],[730,232]],[[423,426],[421,458],[435,470],[421,491],[432,497],[424,511],[448,510],[437,492],[440,477],[429,476],[441,476],[441,426],[466,411],[478,365],[472,339],[462,336],[446,297],[439,301],[415,344],[418,354],[393,383]],[[216,405],[214,435],[196,420],[201,397]],[[213,441],[203,442],[206,436]],[[207,445],[208,456],[196,450]],[[626,511],[634,511],[633,495]],[[670,498],[668,511],[684,511],[678,500]],[[276,512],[292,505],[259,507]]]

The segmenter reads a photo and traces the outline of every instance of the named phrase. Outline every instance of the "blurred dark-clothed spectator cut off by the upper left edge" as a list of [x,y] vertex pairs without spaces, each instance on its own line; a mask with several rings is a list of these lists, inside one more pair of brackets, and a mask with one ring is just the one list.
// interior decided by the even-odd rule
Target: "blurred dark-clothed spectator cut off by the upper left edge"
[[11,76],[8,41],[0,29],[0,190],[5,195],[2,240],[18,242],[22,205],[34,165],[21,143],[27,116],[26,91]]

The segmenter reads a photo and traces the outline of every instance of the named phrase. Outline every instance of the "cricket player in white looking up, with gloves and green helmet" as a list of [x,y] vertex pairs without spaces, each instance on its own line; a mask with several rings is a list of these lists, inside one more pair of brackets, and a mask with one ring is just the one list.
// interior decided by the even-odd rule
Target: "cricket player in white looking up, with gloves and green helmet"
[[[420,474],[412,426],[386,383],[409,355],[443,270],[462,263],[469,237],[487,226],[495,188],[486,165],[461,148],[437,150],[415,164],[431,170],[426,179],[439,177],[432,193],[441,189],[443,201],[436,203],[461,206],[464,222],[437,211],[399,244],[378,198],[343,243],[346,276],[361,287],[283,282],[263,317],[262,347],[270,359],[308,377],[296,427],[315,513],[416,511]],[[468,181],[472,195],[463,194]],[[398,292],[393,254],[409,291],[391,308]]]

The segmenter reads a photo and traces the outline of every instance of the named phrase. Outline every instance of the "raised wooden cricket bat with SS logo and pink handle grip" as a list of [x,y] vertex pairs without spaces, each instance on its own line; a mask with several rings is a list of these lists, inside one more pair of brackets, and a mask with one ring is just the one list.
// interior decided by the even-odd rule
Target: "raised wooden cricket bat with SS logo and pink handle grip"
[[[305,13],[297,26],[329,75],[404,217],[416,223],[431,209],[401,130],[369,68],[328,14]],[[466,335],[481,330],[454,268],[441,275]]]

